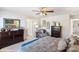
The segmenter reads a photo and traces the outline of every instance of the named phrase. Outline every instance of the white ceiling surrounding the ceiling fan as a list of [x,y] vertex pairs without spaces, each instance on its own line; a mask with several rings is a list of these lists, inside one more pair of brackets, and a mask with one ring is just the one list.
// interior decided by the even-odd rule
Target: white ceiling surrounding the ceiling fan
[[[62,14],[68,13],[71,15],[79,15],[79,7],[47,7],[48,10],[54,10],[54,13],[50,14]],[[0,10],[11,11],[25,16],[39,17],[32,10],[39,10],[39,7],[0,7]]]

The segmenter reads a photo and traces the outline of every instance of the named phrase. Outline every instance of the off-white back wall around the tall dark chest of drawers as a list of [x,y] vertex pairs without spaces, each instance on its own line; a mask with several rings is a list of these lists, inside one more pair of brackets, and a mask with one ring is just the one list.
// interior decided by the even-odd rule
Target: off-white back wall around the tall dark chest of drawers
[[[47,20],[50,22],[50,25],[52,25],[52,22],[60,22],[62,26],[62,37],[68,38],[70,36],[70,17],[68,14],[61,14],[61,15],[54,15],[54,16],[46,16],[44,18],[41,18],[42,20]],[[51,29],[47,29],[49,32]]]

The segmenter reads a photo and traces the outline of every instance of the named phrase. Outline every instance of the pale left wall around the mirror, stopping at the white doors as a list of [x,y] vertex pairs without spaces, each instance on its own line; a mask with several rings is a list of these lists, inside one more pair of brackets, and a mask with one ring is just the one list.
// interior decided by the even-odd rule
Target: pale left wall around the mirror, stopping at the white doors
[[[20,15],[20,14],[16,14],[10,11],[0,11],[0,28],[3,27],[3,18],[11,18],[11,19],[20,19],[21,21],[21,27],[23,27],[25,29],[24,35],[26,35],[26,19],[24,18],[24,16]],[[25,38],[25,37],[24,37]]]

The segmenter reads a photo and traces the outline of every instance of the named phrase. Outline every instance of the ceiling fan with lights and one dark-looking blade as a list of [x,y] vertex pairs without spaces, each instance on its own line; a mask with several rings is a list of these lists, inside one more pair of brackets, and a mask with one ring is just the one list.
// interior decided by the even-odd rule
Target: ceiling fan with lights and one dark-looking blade
[[36,15],[40,14],[42,16],[47,15],[47,13],[53,13],[54,12],[54,10],[48,10],[47,7],[41,7],[41,8],[39,8],[39,10],[32,10],[32,11],[36,12]]

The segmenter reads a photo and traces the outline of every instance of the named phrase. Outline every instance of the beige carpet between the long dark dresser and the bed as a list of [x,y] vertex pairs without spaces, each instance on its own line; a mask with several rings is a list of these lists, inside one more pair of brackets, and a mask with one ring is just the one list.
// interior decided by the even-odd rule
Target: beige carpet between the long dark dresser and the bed
[[22,42],[0,49],[0,52],[16,52]]

